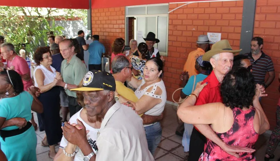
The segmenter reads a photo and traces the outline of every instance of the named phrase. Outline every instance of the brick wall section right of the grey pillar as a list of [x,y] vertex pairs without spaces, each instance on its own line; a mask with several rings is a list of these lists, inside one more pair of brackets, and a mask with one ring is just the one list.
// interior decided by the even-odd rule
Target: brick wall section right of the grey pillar
[[264,39],[263,51],[273,61],[275,79],[267,88],[268,96],[261,100],[262,107],[268,117],[271,128],[275,127],[275,111],[279,99],[280,73],[280,1],[279,0],[257,0],[256,15],[254,23],[254,36]]

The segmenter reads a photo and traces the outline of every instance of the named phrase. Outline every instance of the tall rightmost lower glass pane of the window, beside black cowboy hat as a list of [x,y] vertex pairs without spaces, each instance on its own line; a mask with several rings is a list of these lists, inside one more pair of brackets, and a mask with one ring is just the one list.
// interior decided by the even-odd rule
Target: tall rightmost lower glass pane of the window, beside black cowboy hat
[[167,17],[159,17],[158,18],[158,34],[157,37],[159,39],[158,50],[160,52],[166,52],[166,34],[167,34]]

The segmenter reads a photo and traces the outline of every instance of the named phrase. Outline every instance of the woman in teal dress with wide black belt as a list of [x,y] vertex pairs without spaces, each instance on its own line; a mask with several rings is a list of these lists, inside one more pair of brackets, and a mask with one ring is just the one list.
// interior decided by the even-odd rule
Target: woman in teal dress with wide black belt
[[[0,72],[0,143],[11,161],[36,161],[37,137],[30,122],[31,110],[42,113],[36,87],[23,91],[21,76],[14,70]],[[20,123],[24,120],[24,124]]]

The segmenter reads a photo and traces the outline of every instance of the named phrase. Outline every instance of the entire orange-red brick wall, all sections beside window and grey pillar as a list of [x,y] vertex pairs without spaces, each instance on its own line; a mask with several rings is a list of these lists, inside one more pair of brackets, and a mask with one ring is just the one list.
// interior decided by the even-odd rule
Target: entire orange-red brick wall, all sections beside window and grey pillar
[[[182,4],[170,4],[170,10]],[[92,10],[93,34],[100,35],[100,42],[111,53],[111,44],[118,37],[124,38],[125,7]],[[179,75],[187,55],[196,49],[197,36],[207,32],[222,33],[233,49],[239,49],[242,25],[243,1],[193,3],[169,14],[168,57],[164,67],[164,83],[167,100],[180,87]],[[275,80],[266,90],[269,94],[262,99],[265,113],[275,127],[275,111],[279,98],[278,74],[280,72],[280,1],[257,0],[254,36],[264,38],[264,52],[273,60]],[[175,95],[179,98],[179,92]]]

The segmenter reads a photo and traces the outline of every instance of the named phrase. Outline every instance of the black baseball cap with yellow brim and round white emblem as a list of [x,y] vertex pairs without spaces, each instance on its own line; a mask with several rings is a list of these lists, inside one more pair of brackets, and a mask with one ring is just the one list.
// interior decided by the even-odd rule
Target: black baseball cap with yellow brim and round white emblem
[[112,74],[100,71],[90,70],[83,79],[83,86],[71,89],[71,91],[116,91],[116,82]]

